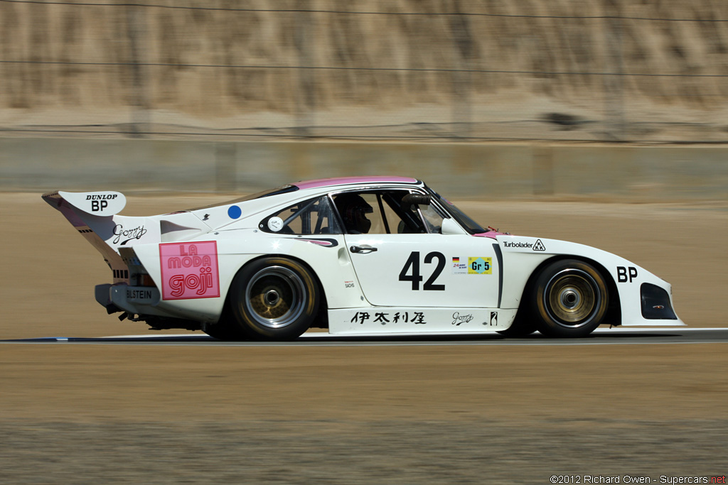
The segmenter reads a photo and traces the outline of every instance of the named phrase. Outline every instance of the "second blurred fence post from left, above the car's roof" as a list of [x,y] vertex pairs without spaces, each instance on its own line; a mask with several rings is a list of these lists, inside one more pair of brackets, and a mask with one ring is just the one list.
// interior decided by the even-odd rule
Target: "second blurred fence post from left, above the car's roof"
[[298,89],[296,94],[296,135],[313,136],[316,84],[314,79],[314,41],[311,13],[305,12],[307,0],[298,0],[296,11],[296,50],[298,51]]

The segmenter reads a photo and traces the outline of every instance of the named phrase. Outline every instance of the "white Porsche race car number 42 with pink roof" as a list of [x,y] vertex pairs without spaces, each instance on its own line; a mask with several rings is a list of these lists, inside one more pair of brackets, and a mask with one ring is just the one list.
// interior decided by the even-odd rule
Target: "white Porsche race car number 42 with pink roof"
[[422,181],[347,177],[209,207],[118,215],[122,193],[46,193],[102,255],[96,300],[223,340],[684,325],[670,284],[590,246],[484,228]]

